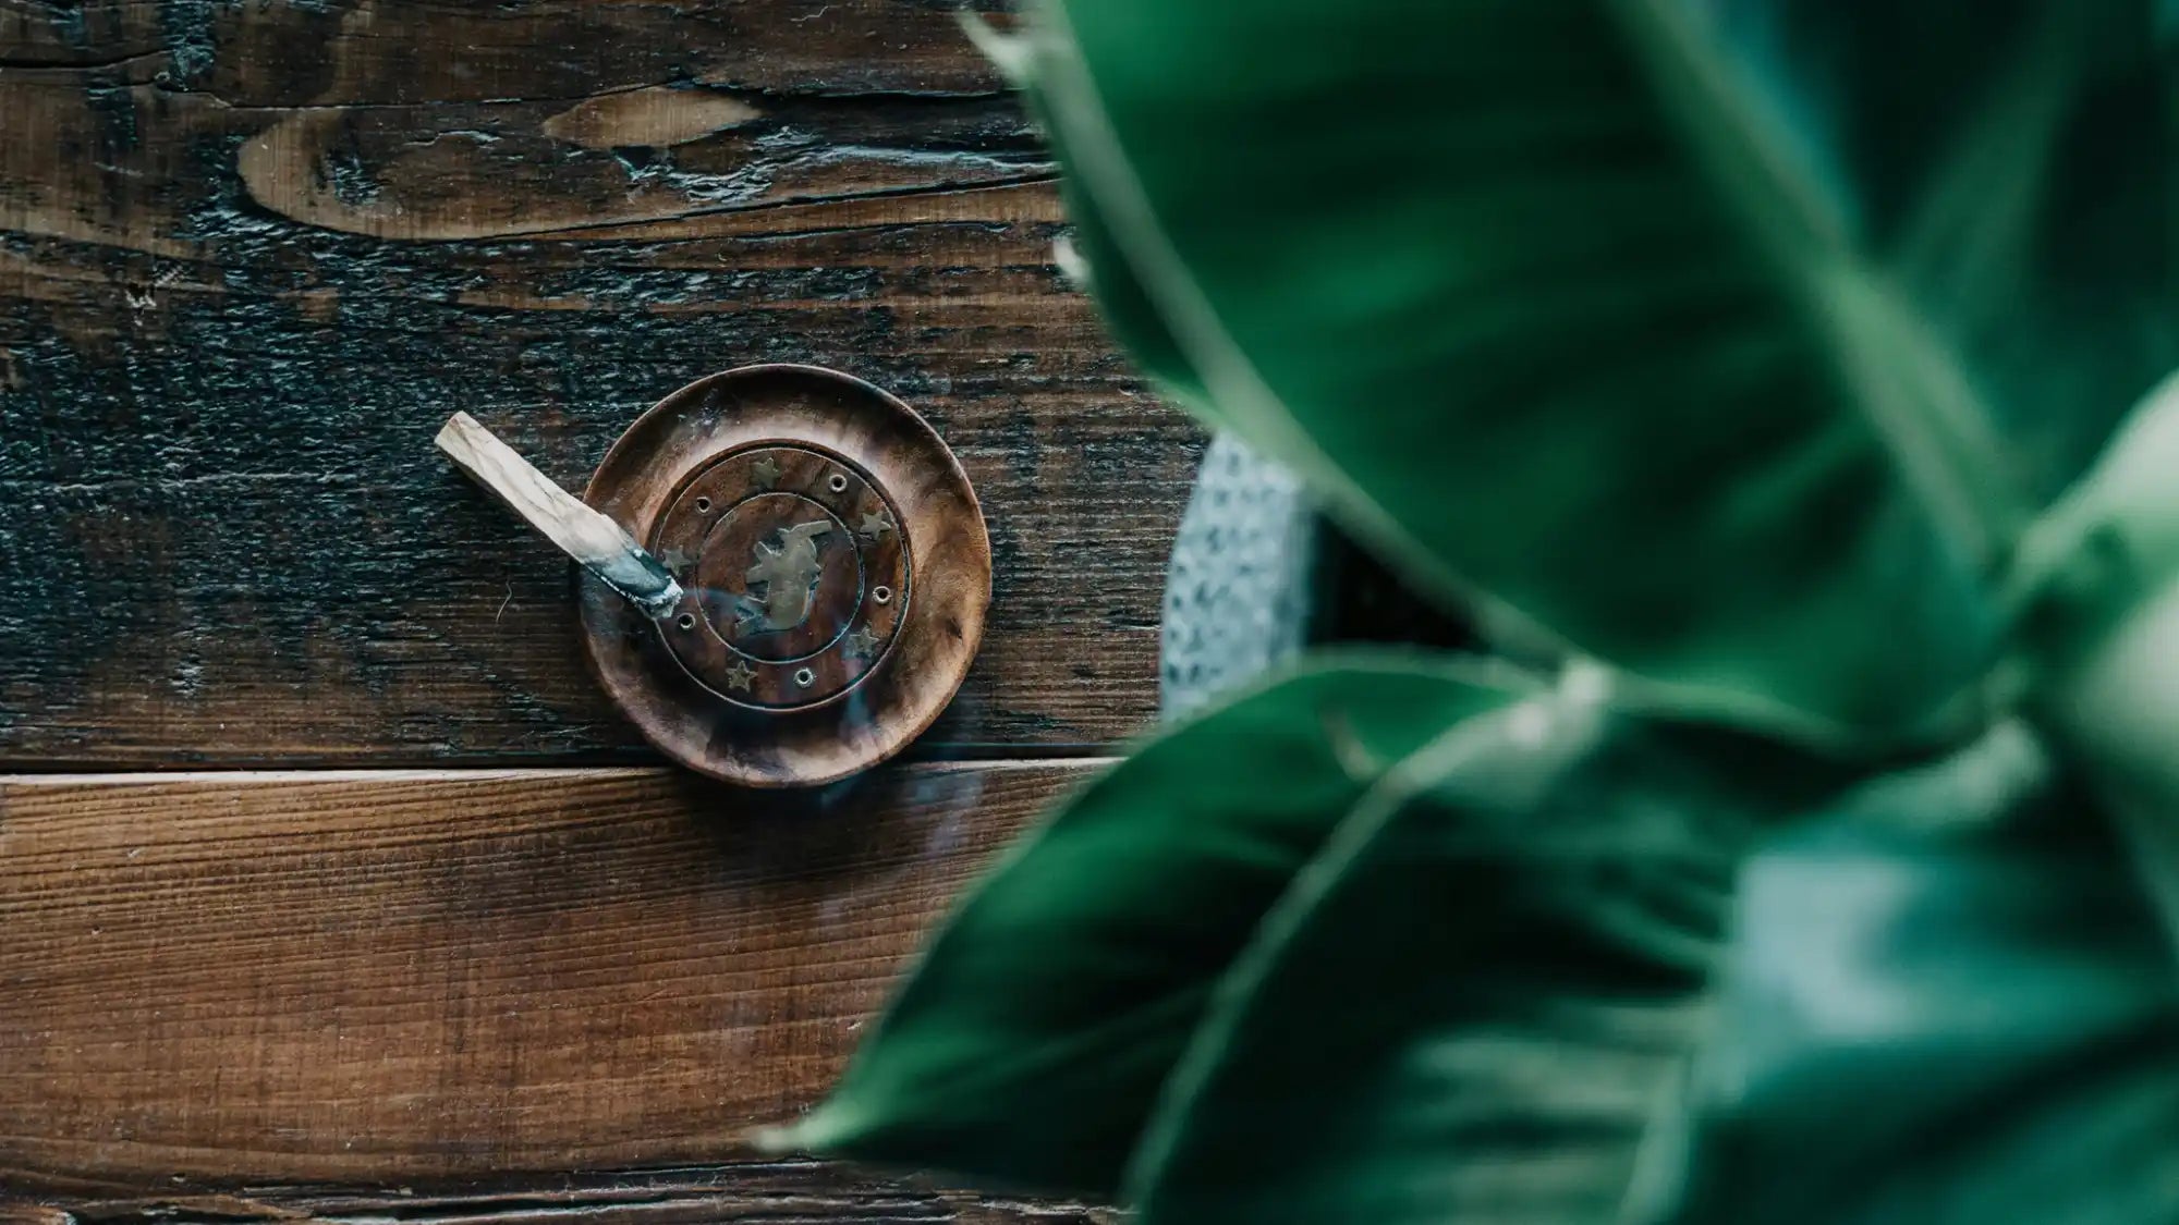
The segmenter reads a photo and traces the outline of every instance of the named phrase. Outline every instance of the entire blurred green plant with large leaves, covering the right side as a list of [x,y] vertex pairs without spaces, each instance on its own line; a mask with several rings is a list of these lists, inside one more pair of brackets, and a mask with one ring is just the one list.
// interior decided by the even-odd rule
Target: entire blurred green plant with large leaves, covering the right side
[[2164,9],[978,28],[1168,395],[1569,663],[1151,739],[771,1142],[1151,1225],[2179,1218]]

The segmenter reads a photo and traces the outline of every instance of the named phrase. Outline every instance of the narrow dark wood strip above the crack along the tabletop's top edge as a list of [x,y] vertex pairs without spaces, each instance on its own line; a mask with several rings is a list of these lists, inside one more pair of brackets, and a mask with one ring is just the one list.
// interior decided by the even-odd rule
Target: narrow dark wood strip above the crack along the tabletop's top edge
[[0,65],[157,59],[231,107],[584,96],[689,81],[806,94],[994,92],[954,9],[983,2],[0,0]]

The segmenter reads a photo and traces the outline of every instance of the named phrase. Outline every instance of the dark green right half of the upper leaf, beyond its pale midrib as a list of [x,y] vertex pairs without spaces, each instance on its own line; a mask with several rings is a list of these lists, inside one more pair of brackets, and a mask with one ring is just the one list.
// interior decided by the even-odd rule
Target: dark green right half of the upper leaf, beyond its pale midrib
[[1697,0],[2042,501],[2179,364],[2155,2]]

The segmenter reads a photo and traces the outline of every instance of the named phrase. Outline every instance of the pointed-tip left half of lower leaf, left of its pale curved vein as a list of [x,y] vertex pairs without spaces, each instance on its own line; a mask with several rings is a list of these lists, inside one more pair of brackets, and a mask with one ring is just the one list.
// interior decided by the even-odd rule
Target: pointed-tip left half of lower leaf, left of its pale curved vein
[[771,1144],[1113,1194],[1273,900],[1386,769],[1523,689],[1351,654],[1168,730],[970,894],[832,1099]]

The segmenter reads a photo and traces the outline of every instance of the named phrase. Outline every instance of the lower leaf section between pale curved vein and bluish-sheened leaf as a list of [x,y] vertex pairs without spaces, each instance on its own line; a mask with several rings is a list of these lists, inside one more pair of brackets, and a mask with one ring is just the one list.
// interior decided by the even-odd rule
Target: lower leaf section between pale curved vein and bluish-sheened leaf
[[1144,1225],[1612,1218],[1741,848],[1837,787],[1578,693],[1462,724],[1229,974],[1131,1173]]

